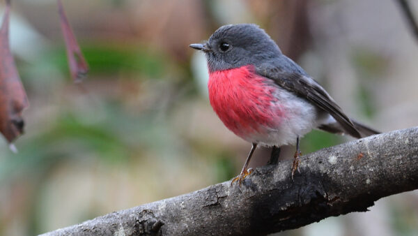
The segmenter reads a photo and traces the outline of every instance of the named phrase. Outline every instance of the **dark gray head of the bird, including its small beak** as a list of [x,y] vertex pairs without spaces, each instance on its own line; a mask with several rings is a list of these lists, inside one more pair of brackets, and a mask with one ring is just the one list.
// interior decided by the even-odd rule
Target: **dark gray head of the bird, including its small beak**
[[190,47],[205,52],[210,72],[256,66],[281,55],[277,44],[256,24],[224,25],[206,43]]

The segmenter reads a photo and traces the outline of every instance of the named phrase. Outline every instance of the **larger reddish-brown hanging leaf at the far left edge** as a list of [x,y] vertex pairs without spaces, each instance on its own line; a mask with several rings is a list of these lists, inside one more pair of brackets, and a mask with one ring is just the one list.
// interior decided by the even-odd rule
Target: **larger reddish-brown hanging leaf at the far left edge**
[[29,106],[9,45],[10,1],[0,28],[0,131],[8,142],[23,133],[22,110]]

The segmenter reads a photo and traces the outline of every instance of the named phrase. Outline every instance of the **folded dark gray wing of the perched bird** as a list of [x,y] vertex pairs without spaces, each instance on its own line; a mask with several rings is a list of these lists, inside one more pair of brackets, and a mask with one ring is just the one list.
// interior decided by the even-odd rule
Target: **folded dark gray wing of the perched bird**
[[[287,57],[286,57],[287,59]],[[345,133],[355,138],[361,138],[359,131],[355,128],[353,121],[344,114],[334,99],[321,87],[318,82],[309,78],[300,66],[288,59],[285,64],[272,63],[261,64],[256,67],[256,73],[265,78],[273,80],[278,86],[295,93],[297,96],[307,99],[318,108],[330,113],[334,119],[343,127]],[[283,62],[283,61],[281,61]],[[295,64],[296,66],[292,65]]]

